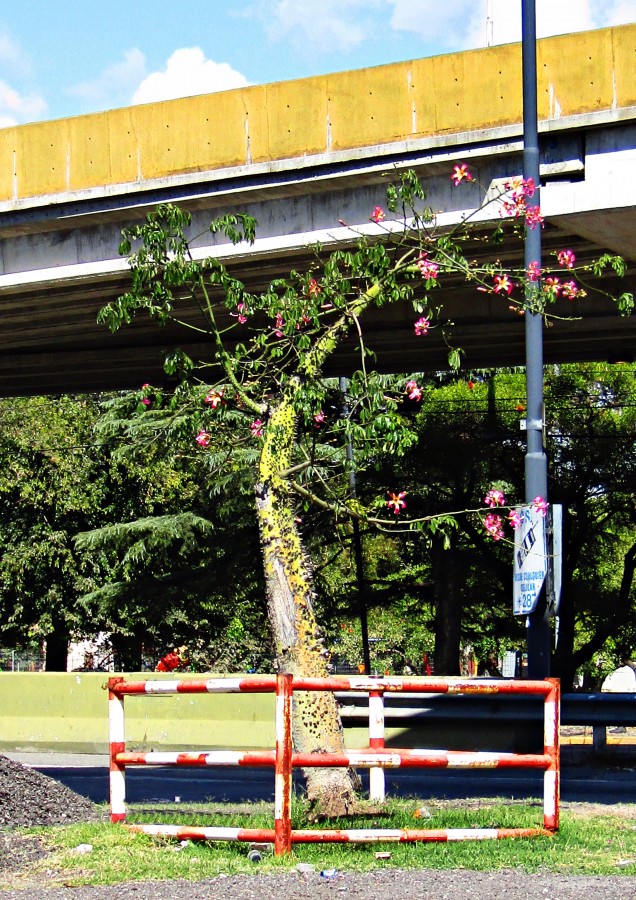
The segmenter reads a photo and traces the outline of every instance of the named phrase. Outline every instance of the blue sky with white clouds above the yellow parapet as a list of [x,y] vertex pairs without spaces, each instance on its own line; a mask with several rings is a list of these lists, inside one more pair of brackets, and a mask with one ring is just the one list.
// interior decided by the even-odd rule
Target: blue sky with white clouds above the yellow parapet
[[[536,0],[539,37],[636,0]],[[0,127],[520,40],[521,0],[1,0]]]

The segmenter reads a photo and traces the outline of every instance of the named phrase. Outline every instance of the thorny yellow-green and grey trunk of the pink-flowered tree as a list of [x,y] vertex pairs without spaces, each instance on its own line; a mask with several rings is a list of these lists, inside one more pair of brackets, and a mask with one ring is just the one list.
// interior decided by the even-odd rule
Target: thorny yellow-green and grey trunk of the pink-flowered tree
[[[270,413],[256,485],[269,619],[280,672],[324,678],[329,653],[313,610],[312,577],[295,522],[293,501],[281,473],[290,465],[295,414],[283,400]],[[330,691],[294,695],[293,740],[299,752],[342,753],[344,735]],[[337,768],[305,771],[309,800],[317,812],[346,814],[355,801],[353,773]]]

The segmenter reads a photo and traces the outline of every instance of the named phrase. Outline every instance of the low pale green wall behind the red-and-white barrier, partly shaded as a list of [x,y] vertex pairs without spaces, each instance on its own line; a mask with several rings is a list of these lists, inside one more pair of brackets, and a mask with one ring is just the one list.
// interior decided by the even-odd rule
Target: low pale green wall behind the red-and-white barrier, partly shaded
[[[148,673],[124,677],[139,680]],[[179,677],[152,673],[153,679]],[[107,753],[107,681],[104,672],[0,672],[0,753]],[[125,711],[129,750],[255,750],[275,744],[273,694],[134,696],[125,699]],[[474,722],[420,720],[406,728],[387,722],[386,743],[541,752],[539,731],[529,736],[526,727],[501,722],[483,722],[478,728]],[[368,737],[366,727],[345,729],[350,749],[368,746]]]

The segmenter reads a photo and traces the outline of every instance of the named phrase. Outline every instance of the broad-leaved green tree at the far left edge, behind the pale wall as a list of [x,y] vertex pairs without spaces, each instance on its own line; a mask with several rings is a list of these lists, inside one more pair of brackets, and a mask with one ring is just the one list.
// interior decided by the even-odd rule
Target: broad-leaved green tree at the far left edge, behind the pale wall
[[50,671],[66,671],[69,635],[85,625],[77,598],[105,575],[73,546],[104,500],[98,459],[86,453],[95,417],[88,398],[0,403],[0,639],[46,641]]

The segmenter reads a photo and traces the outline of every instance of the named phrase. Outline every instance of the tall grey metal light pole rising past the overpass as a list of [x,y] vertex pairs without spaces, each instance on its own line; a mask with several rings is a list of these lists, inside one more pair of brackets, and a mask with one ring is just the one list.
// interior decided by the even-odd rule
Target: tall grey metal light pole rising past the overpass
[[[523,79],[523,177],[532,178],[536,193],[532,203],[539,206],[539,129],[537,113],[537,28],[535,0],[521,0],[521,55]],[[526,226],[525,267],[541,265],[541,229]],[[526,300],[532,304],[540,284],[528,282]],[[543,319],[526,312],[526,399],[527,445],[525,457],[525,499],[548,499],[548,460],[543,446]],[[527,620],[528,677],[550,675],[550,617],[545,585],[537,607]]]

